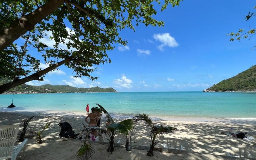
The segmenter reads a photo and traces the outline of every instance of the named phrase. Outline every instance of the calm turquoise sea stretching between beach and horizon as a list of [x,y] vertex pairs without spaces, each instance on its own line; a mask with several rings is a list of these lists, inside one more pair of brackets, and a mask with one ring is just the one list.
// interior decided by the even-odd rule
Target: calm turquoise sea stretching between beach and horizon
[[[0,110],[11,102],[12,95],[0,95]],[[15,94],[13,99],[17,109],[25,110],[84,112],[87,103],[127,115],[256,118],[255,92],[48,93]]]

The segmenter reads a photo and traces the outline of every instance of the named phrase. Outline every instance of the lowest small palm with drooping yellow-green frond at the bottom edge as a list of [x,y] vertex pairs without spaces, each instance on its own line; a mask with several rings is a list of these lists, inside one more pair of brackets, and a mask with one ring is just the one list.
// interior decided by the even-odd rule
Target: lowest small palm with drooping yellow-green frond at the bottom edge
[[[84,125],[84,124],[83,124]],[[91,159],[94,149],[92,148],[92,145],[87,143],[87,140],[91,138],[91,135],[94,130],[101,131],[101,134],[106,134],[107,131],[105,129],[99,128],[99,127],[86,127],[84,125],[84,129],[81,132],[81,136],[84,138],[84,144],[82,147],[76,152],[76,156],[79,160],[89,160]]]

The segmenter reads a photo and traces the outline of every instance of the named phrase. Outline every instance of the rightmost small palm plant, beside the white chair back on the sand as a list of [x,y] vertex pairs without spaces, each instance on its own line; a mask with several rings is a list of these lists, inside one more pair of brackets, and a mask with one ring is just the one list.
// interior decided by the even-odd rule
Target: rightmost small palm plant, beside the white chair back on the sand
[[149,135],[151,137],[151,145],[150,145],[150,149],[147,153],[147,156],[154,155],[153,150],[154,150],[156,144],[159,142],[159,141],[155,142],[156,137],[158,135],[164,135],[164,134],[168,134],[168,133],[178,130],[177,128],[174,128],[174,127],[169,127],[169,126],[164,126],[164,125],[154,125],[152,122],[152,119],[150,117],[148,117],[145,113],[138,114],[138,116],[135,116],[134,119],[135,119],[135,122],[138,122],[138,121],[146,122],[146,126],[151,128],[150,133],[149,133]]

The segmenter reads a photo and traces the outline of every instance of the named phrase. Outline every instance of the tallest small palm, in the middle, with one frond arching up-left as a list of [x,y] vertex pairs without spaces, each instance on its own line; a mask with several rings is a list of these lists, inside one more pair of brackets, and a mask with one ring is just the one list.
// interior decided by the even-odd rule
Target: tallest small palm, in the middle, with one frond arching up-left
[[135,122],[133,119],[126,119],[121,122],[115,122],[113,118],[109,115],[109,113],[106,111],[105,108],[103,108],[101,105],[97,104],[100,108],[97,109],[98,112],[101,112],[101,114],[106,115],[106,132],[109,137],[109,146],[107,151],[113,152],[114,151],[114,138],[116,134],[128,136],[129,132],[132,132],[135,127]]

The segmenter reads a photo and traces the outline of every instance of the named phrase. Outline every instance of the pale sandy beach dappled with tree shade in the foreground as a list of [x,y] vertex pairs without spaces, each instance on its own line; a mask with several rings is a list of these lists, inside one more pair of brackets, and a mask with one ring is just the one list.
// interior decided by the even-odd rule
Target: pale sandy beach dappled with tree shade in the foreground
[[[28,146],[26,148],[25,159],[77,159],[76,152],[81,147],[83,142],[81,140],[61,139],[60,122],[68,122],[73,127],[75,133],[80,133],[83,129],[82,123],[84,121],[84,113],[73,112],[55,112],[55,111],[12,111],[4,109],[0,112],[0,125],[20,124],[20,122],[35,116],[28,124],[28,129],[40,130],[43,125],[51,120],[51,126],[43,133],[44,143],[37,144],[34,134],[27,134]],[[114,115],[113,119],[118,122],[129,116]],[[256,141],[256,121],[253,120],[221,120],[221,119],[207,119],[205,118],[186,118],[184,121],[182,117],[174,121],[172,119],[154,117],[154,123],[164,124],[176,127],[179,130],[172,134],[158,137],[160,141],[156,147],[162,148],[161,144],[166,143],[165,138],[178,138],[182,140],[184,152],[168,153],[155,152],[155,156],[146,156],[146,150],[133,149],[126,151],[122,147],[116,147],[112,154],[106,151],[108,146],[92,143],[95,149],[92,159],[227,159],[226,152],[233,155],[238,155],[238,148],[241,147],[255,147]],[[101,126],[104,127],[104,120],[101,121]],[[20,128],[21,129],[21,128]],[[144,127],[144,124],[137,123],[135,131],[131,134],[132,144],[139,146],[150,146],[149,129]],[[254,140],[243,140],[221,132],[247,132],[247,136],[254,138]],[[115,141],[120,140],[121,144],[125,144],[124,136],[116,136]],[[100,137],[100,141],[102,138]],[[18,142],[17,142],[18,144]],[[230,158],[232,159],[232,158]],[[234,158],[233,158],[234,159]]]

